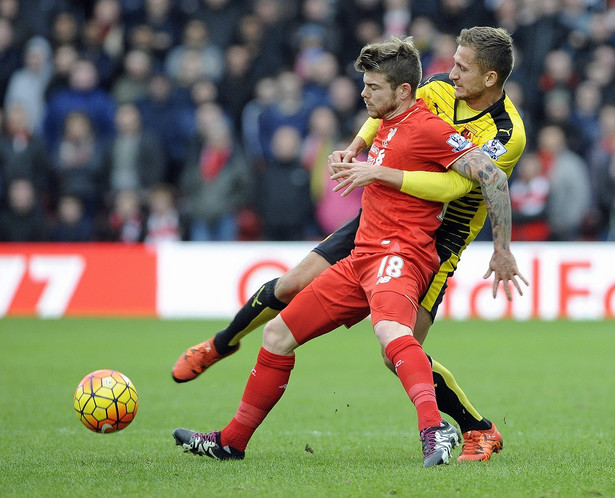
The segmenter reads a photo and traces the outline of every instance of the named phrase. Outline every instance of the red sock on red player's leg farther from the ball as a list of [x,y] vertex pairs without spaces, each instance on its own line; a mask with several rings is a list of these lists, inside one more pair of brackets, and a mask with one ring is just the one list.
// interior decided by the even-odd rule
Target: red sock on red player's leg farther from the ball
[[416,407],[419,431],[439,427],[442,417],[436,402],[431,365],[419,342],[411,335],[398,337],[388,344],[385,352]]

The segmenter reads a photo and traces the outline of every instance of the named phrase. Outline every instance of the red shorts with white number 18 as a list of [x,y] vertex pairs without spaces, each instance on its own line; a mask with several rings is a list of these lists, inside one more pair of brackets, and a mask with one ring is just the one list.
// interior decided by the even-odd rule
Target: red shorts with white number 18
[[316,277],[280,316],[299,344],[370,313],[374,325],[390,320],[413,329],[427,284],[402,255],[352,255]]

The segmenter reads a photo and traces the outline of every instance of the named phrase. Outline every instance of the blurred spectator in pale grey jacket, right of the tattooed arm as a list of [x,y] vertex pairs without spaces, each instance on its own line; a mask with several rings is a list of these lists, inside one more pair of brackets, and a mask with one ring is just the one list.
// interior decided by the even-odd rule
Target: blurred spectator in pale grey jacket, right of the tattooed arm
[[550,239],[579,240],[590,208],[589,171],[583,159],[568,148],[566,136],[557,126],[538,133],[538,154],[549,175],[547,221]]

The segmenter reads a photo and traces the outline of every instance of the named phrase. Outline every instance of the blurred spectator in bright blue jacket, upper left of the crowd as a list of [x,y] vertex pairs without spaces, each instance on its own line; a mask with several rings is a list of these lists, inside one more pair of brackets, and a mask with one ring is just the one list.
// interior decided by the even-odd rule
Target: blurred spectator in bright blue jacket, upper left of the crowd
[[71,112],[85,114],[99,139],[111,138],[115,102],[98,86],[96,66],[86,59],[79,59],[72,66],[69,87],[57,91],[49,99],[43,129],[51,150],[58,147],[64,122]]

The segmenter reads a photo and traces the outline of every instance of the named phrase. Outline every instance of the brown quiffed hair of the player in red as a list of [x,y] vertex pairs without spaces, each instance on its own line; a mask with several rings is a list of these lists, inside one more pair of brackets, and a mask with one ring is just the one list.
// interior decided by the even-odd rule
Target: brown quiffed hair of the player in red
[[412,87],[412,95],[416,93],[423,73],[421,55],[411,36],[404,39],[393,37],[390,41],[365,45],[354,67],[361,73],[384,74],[393,90],[402,83],[408,83]]

